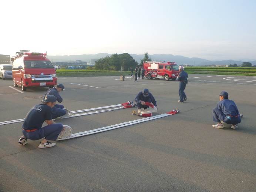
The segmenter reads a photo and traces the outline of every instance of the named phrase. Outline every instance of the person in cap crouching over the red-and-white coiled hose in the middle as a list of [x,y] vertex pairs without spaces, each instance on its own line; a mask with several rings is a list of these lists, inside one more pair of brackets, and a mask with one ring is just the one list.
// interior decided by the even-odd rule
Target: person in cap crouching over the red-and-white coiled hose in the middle
[[154,98],[154,96],[148,91],[148,89],[144,89],[144,90],[140,91],[140,92],[138,93],[138,95],[136,96],[136,98],[134,99],[134,101],[135,101],[135,103],[136,103],[136,106],[139,108],[139,110],[140,110],[141,108],[144,108],[144,109],[148,108],[148,106],[145,105],[145,102],[149,102],[149,103],[152,102],[152,104],[157,107],[155,98]]

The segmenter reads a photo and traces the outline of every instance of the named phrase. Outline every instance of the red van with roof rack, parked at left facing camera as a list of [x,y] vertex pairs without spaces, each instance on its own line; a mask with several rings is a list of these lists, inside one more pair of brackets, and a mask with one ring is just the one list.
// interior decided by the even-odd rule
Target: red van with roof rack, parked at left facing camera
[[12,58],[13,84],[27,87],[50,87],[57,85],[56,71],[45,53],[21,53]]

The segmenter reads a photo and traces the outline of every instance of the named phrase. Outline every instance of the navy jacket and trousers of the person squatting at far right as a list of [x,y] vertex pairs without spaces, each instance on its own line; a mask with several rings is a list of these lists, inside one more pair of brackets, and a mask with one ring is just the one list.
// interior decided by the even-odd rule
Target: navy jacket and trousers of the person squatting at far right
[[238,108],[234,101],[224,99],[219,101],[217,107],[212,110],[213,121],[223,121],[226,124],[236,125],[241,122]]

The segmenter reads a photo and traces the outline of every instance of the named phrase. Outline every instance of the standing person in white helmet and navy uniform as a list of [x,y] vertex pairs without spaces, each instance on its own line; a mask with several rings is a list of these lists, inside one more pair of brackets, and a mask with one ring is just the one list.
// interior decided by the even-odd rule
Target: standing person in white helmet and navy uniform
[[184,92],[185,88],[186,88],[186,84],[188,83],[188,74],[184,71],[184,67],[181,65],[179,66],[179,76],[177,78],[177,80],[179,81],[179,97],[180,100],[178,100],[178,102],[184,102],[186,101],[188,98]]

